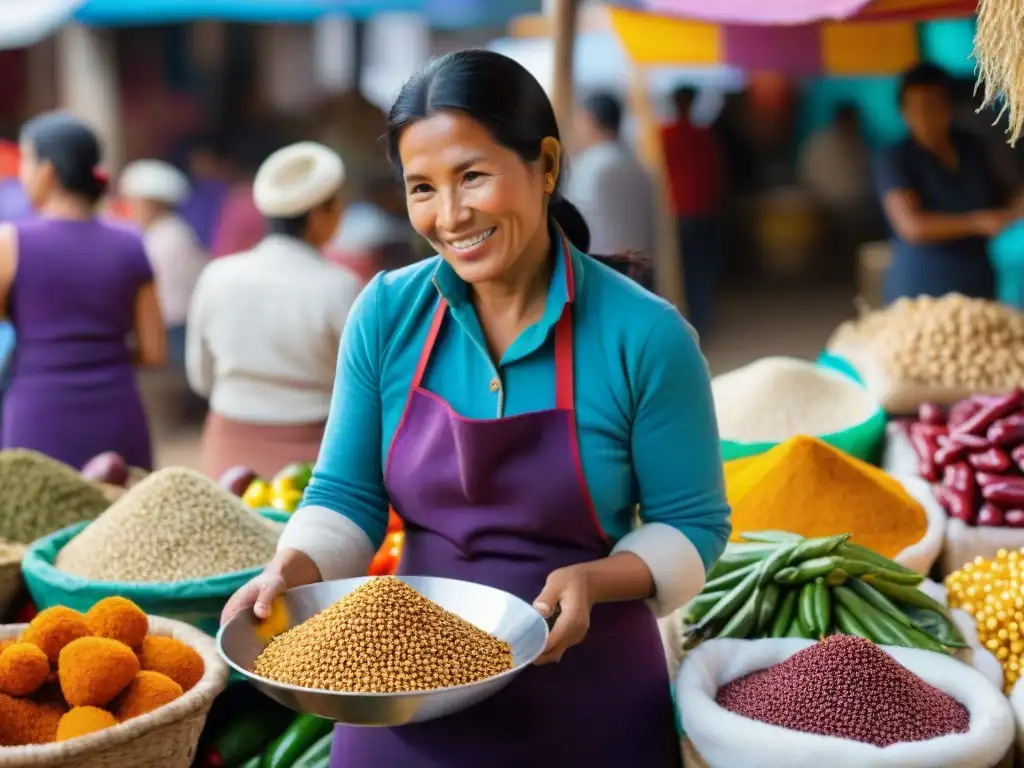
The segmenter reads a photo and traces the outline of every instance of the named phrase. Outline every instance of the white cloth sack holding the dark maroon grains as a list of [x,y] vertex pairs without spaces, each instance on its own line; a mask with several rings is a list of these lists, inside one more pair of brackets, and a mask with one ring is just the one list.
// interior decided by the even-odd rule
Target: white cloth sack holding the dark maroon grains
[[719,688],[778,664],[813,641],[712,640],[690,652],[676,679],[683,730],[709,768],[991,768],[1014,742],[1010,702],[967,665],[941,653],[893,648],[886,652],[963,703],[967,733],[887,748],[792,731],[719,707]]

